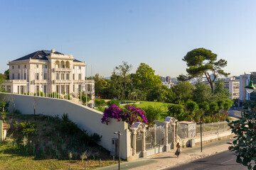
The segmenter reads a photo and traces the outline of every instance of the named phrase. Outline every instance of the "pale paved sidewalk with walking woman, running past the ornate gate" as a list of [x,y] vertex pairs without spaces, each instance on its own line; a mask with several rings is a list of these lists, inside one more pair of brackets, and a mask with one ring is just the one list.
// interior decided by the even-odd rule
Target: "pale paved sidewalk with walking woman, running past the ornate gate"
[[[218,142],[211,142],[203,145],[203,152],[201,152],[201,146],[188,147],[181,150],[181,155],[177,158],[174,155],[175,150],[170,152],[162,152],[160,154],[154,154],[147,158],[141,158],[131,162],[124,162],[120,165],[120,169],[127,170],[155,170],[155,169],[166,169],[169,167],[178,166],[181,164],[187,164],[195,159],[200,159],[203,157],[208,157],[212,154],[219,152],[224,152],[228,150],[228,144],[226,142],[232,142],[233,139],[229,140],[219,140]],[[118,164],[112,166],[106,166],[101,168],[101,170],[111,170],[118,169]]]

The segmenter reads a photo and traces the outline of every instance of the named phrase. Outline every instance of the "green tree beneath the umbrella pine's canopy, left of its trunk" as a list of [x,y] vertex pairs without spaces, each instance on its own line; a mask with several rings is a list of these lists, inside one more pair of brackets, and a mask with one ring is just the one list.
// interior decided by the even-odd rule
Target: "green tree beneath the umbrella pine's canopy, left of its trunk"
[[203,103],[204,101],[208,103],[212,102],[213,94],[211,93],[210,86],[203,84],[201,81],[197,81],[192,98],[196,103]]

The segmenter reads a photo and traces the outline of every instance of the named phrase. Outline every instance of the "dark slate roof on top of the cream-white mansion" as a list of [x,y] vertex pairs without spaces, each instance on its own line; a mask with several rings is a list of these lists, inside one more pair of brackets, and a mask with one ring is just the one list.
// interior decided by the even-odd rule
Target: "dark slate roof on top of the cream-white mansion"
[[36,51],[33,52],[29,55],[25,55],[24,57],[20,57],[14,61],[19,61],[19,60],[28,60],[29,58],[34,59],[34,60],[48,60],[46,58],[47,55],[49,55],[50,53],[54,53],[56,55],[63,55],[60,52],[51,52],[51,50],[40,50],[40,51]]

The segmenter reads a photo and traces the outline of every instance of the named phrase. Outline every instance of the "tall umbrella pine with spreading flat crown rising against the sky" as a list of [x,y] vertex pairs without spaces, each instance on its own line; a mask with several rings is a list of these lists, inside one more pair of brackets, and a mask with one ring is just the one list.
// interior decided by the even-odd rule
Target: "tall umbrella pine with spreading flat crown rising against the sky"
[[[178,80],[184,81],[194,77],[206,77],[212,93],[214,91],[213,84],[218,75],[227,77],[230,74],[223,70],[223,67],[227,66],[228,62],[223,59],[217,60],[217,55],[205,48],[191,50],[183,57],[183,61],[188,66],[186,69],[188,74],[181,74]],[[211,75],[213,76],[211,77]]]

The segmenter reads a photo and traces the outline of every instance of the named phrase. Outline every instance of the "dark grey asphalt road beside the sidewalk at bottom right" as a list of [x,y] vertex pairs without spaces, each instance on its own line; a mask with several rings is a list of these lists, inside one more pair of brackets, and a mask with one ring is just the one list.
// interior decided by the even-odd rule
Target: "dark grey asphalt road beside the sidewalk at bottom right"
[[210,156],[210,157],[198,159],[195,162],[183,164],[181,166],[176,166],[168,170],[190,170],[190,169],[191,170],[193,169],[246,170],[247,169],[246,166],[243,166],[242,164],[238,164],[237,162],[235,162],[235,159],[236,157],[233,152],[226,151],[220,154],[214,154],[213,156]]

